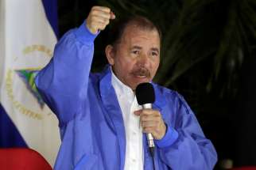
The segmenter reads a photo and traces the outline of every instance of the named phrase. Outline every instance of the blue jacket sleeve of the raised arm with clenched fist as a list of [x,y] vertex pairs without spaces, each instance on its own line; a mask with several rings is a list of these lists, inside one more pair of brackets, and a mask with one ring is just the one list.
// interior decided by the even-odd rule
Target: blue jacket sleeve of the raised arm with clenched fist
[[88,79],[97,36],[84,22],[56,44],[51,61],[35,79],[39,93],[56,114],[60,127],[73,119],[87,96]]

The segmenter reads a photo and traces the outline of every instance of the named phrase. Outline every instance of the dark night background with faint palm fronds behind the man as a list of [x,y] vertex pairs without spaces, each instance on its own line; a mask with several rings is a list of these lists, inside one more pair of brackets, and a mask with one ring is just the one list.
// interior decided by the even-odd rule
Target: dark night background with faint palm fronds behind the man
[[[59,35],[80,26],[92,6],[116,20],[139,14],[163,32],[161,68],[154,81],[175,89],[195,111],[219,156],[215,169],[256,165],[256,1],[58,1]],[[107,63],[111,25],[95,40],[93,71]]]

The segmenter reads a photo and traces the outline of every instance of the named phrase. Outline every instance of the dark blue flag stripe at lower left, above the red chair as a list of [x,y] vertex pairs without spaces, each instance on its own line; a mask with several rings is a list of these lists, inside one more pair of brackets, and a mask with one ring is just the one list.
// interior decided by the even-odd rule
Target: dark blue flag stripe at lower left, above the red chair
[[27,147],[21,134],[0,104],[0,148]]

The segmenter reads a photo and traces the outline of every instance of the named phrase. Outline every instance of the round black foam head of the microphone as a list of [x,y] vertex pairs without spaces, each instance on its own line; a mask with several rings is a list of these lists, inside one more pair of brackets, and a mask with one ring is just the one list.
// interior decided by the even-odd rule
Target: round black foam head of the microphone
[[135,89],[138,104],[153,104],[155,101],[155,92],[150,83],[141,83]]

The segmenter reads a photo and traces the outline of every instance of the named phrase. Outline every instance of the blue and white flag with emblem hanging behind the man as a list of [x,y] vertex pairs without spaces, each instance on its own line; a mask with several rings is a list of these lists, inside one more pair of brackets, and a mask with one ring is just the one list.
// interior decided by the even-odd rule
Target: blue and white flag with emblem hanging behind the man
[[56,0],[0,1],[0,146],[35,149],[50,164],[58,121],[33,78],[52,58],[56,17]]

